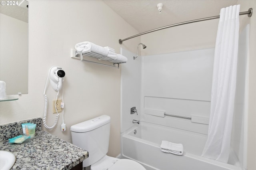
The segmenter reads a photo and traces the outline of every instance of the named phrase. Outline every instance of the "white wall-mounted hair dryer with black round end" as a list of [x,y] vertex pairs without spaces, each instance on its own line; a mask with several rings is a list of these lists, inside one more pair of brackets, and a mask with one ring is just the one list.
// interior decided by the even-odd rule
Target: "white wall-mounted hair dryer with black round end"
[[62,88],[62,81],[64,80],[65,71],[61,67],[52,67],[50,69],[50,83],[55,91],[60,91]]

